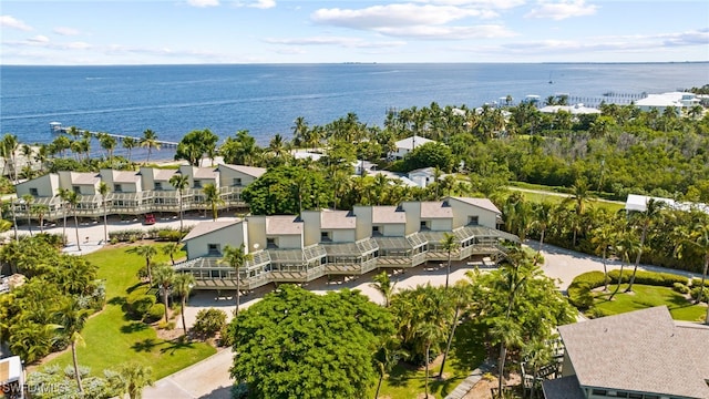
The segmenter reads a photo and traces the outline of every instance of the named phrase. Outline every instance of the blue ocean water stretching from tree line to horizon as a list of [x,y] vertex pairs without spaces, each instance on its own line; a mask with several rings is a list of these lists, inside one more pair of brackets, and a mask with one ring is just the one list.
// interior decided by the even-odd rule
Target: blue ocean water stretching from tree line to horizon
[[382,125],[390,108],[493,103],[507,94],[660,93],[709,83],[709,63],[0,65],[0,134],[51,142],[50,122],[179,141],[195,129],[248,130],[260,144],[292,136],[294,121],[325,124],[352,112]]

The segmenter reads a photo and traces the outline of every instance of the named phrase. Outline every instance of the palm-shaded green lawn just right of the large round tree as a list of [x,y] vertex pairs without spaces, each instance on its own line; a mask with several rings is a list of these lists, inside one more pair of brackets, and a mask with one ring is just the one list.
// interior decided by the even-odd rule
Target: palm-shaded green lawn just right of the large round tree
[[[445,361],[445,380],[439,381],[438,376],[441,368],[429,370],[429,390],[436,398],[444,398],[461,383],[472,370],[477,368],[485,358],[484,339],[481,326],[473,320],[467,320],[455,329],[455,337],[451,345],[451,354]],[[415,398],[424,392],[425,369],[420,370],[411,366],[399,364],[386,378],[381,386],[380,397],[390,398]],[[377,386],[372,388],[370,397],[374,396]]]

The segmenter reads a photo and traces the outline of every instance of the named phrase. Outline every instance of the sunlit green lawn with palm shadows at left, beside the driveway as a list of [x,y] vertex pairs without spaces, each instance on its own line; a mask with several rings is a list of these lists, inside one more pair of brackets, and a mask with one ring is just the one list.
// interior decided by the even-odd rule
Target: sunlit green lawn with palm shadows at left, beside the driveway
[[[86,255],[99,266],[99,278],[106,282],[107,304],[91,317],[81,331],[86,346],[78,348],[79,362],[91,367],[92,374],[115,368],[134,360],[153,368],[155,379],[181,370],[216,352],[204,342],[181,342],[158,339],[150,326],[125,317],[122,305],[131,289],[140,287],[137,270],[145,259],[127,252],[129,247],[106,248]],[[155,262],[169,262],[162,252]],[[143,288],[143,287],[142,287]],[[48,365],[70,365],[71,352],[64,352]]]

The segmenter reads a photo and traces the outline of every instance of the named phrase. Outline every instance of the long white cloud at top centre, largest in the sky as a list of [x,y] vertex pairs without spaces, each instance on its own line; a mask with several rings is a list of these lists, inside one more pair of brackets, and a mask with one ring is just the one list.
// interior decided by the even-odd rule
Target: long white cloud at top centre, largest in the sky
[[310,18],[316,23],[352,29],[443,24],[466,17],[480,17],[475,9],[432,4],[387,4],[366,9],[319,9]]

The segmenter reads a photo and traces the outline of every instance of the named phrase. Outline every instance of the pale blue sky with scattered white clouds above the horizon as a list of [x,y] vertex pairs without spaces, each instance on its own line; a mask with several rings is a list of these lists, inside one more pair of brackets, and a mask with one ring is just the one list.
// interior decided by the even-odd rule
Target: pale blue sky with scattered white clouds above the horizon
[[706,0],[1,0],[0,64],[709,61]]

